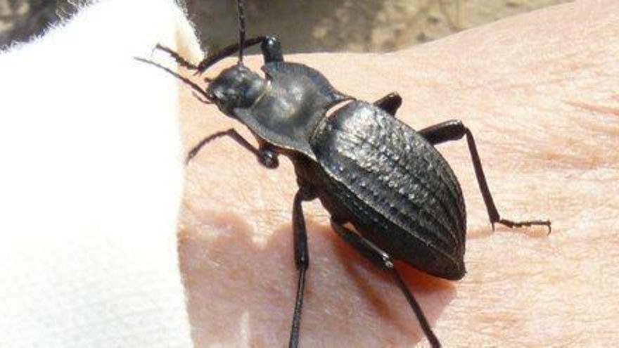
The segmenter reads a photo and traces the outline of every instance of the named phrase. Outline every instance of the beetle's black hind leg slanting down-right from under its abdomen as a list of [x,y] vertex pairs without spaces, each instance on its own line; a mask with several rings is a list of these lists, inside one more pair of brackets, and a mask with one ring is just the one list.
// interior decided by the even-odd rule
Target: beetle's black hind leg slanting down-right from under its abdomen
[[417,320],[419,321],[419,325],[421,326],[421,330],[428,337],[428,341],[430,342],[430,346],[433,348],[440,347],[440,342],[434,333],[432,332],[432,328],[430,328],[430,324],[428,323],[428,319],[426,319],[426,315],[423,314],[419,303],[416,301],[413,294],[408,289],[407,285],[402,281],[402,277],[400,273],[398,273],[397,269],[393,264],[393,261],[389,254],[381,250],[379,247],[371,243],[366,238],[359,236],[358,233],[351,231],[349,228],[344,226],[343,221],[338,221],[337,219],[331,218],[331,226],[333,230],[338,233],[338,236],[343,238],[348,244],[352,245],[352,247],[362,254],[363,257],[369,259],[373,264],[383,269],[383,271],[389,271],[397,286],[400,288],[404,296],[406,297],[411,309],[413,309]]

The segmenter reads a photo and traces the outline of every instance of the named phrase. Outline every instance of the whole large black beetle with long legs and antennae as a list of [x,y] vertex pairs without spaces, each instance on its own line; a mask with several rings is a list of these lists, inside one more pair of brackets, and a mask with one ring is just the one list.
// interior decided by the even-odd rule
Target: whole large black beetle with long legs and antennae
[[[416,299],[395,269],[399,259],[432,276],[464,277],[466,210],[459,182],[435,149],[466,136],[473,168],[490,223],[508,227],[544,225],[550,221],[511,221],[499,216],[487,186],[473,134],[459,120],[414,131],[395,118],[402,103],[396,93],[374,103],[340,93],[317,70],[284,62],[274,37],[245,39],[243,1],[237,0],[239,42],[209,55],[198,65],[164,46],[179,65],[205,72],[238,51],[238,63],[202,89],[189,79],[148,60],[189,84],[219,110],[254,134],[255,148],[234,129],[200,141],[187,157],[220,136],[231,136],[254,153],[261,165],[276,168],[278,155],[295,167],[299,190],[293,203],[295,264],[299,270],[289,347],[297,347],[305,271],[309,265],[302,202],[318,198],[331,214],[331,226],[360,254],[392,274],[407,298],[432,347],[440,347]],[[243,65],[243,49],[260,44],[266,78]],[[328,112],[329,115],[328,115]],[[345,226],[351,224],[354,230]]]

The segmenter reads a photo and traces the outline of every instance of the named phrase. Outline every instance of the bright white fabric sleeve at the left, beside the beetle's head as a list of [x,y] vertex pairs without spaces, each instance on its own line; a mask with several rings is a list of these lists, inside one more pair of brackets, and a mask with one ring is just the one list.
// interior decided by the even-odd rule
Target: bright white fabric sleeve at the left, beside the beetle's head
[[[110,0],[0,53],[0,347],[191,347],[173,0]],[[192,56],[193,55],[193,56]]]

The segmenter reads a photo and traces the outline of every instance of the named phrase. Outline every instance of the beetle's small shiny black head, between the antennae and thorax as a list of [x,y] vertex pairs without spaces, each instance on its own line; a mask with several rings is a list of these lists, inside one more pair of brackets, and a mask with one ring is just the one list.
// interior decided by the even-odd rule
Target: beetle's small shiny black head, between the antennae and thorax
[[249,108],[264,94],[266,88],[265,79],[245,65],[237,64],[215,77],[208,85],[206,94],[219,110],[233,116],[234,108]]

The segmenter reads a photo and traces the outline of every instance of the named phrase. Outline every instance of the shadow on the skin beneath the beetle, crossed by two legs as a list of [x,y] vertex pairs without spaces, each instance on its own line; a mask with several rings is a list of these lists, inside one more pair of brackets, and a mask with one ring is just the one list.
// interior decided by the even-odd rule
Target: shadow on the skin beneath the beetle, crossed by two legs
[[[194,217],[191,217],[192,219]],[[290,334],[298,272],[290,224],[257,243],[246,218],[200,213],[181,224],[179,258],[196,347],[281,347]],[[185,219],[187,220],[187,219]],[[393,280],[340,240],[307,221],[301,342],[307,347],[419,342],[423,333]],[[433,323],[454,297],[447,281],[397,265]]]

